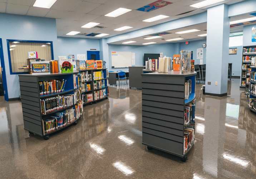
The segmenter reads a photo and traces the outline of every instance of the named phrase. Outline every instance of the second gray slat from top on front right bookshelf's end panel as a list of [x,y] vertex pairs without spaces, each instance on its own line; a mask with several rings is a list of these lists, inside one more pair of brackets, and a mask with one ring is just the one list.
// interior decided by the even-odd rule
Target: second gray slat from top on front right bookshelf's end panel
[[183,85],[170,85],[170,84],[142,83],[142,88],[171,90],[171,91],[184,91],[184,84]]

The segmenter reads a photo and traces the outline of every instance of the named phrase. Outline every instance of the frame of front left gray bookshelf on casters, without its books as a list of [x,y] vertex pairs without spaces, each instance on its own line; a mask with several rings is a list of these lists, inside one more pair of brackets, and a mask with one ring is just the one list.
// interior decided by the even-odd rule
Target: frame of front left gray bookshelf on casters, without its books
[[[49,134],[60,131],[64,128],[67,128],[71,124],[76,125],[77,120],[81,116],[75,119],[72,123],[65,125],[62,128],[55,129],[49,133],[44,132],[44,123],[43,120],[49,119],[50,116],[54,116],[55,113],[63,111],[65,109],[74,108],[76,104],[70,105],[63,109],[55,110],[50,113],[42,114],[41,113],[41,104],[40,100],[48,97],[55,97],[58,95],[72,95],[74,94],[74,81],[73,74],[78,74],[79,71],[74,73],[51,73],[49,75],[32,75],[32,74],[22,74],[19,75],[20,82],[20,94],[21,94],[21,105],[23,112],[23,121],[24,129],[28,130],[30,134],[37,134],[43,136],[45,140],[49,139]],[[65,83],[65,88],[63,92],[40,95],[39,82],[48,81],[54,79],[64,79],[67,80]]]

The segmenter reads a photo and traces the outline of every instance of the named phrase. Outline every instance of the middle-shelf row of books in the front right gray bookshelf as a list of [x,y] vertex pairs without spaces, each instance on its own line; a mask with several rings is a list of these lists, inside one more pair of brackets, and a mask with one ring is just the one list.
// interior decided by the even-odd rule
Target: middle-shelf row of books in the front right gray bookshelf
[[196,100],[185,106],[184,110],[184,127],[189,124],[195,124]]

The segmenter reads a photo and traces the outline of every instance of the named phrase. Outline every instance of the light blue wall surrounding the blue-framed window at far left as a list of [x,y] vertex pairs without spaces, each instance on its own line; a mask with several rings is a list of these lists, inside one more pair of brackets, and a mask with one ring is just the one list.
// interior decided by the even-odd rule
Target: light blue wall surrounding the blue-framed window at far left
[[19,76],[10,75],[6,39],[53,41],[54,59],[58,59],[56,20],[0,13],[0,27],[9,99],[18,98],[20,95]]

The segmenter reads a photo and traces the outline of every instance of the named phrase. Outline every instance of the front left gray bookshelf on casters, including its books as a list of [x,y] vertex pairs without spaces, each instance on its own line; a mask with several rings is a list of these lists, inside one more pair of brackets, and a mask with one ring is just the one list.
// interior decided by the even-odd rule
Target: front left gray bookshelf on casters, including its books
[[[82,116],[83,109],[81,107],[82,100],[80,99],[81,96],[78,89],[79,87],[75,87],[75,74],[79,74],[79,72],[51,73],[48,75],[19,75],[25,130],[28,130],[30,134],[33,133],[43,136],[43,138],[47,140],[49,139],[49,134],[62,130],[71,124],[77,124],[77,120]],[[42,87],[40,85],[41,81],[50,81],[56,79],[58,79],[58,81],[65,81],[65,88],[63,88],[63,91],[60,91],[59,93],[57,92],[42,95]],[[48,90],[51,90],[50,86],[51,85],[49,84]],[[50,99],[49,103],[48,99]],[[47,111],[48,107],[43,105],[44,100],[46,105],[48,104],[52,107],[51,111]],[[64,110],[66,112],[63,112]],[[58,117],[56,114],[62,114],[63,116]],[[46,131],[47,129],[49,130]]]

